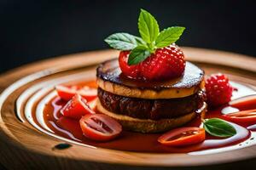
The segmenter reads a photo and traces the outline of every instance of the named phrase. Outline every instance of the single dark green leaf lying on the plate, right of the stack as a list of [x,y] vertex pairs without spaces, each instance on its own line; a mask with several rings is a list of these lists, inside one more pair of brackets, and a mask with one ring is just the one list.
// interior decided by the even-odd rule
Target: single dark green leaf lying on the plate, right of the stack
[[236,129],[222,119],[212,118],[203,122],[204,129],[207,133],[217,137],[230,137],[236,134]]

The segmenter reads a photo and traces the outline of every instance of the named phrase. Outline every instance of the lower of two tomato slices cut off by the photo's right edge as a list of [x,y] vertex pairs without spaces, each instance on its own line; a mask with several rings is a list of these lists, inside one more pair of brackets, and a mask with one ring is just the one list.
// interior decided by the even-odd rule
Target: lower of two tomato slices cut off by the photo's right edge
[[230,122],[256,122],[256,109],[226,114],[224,118]]

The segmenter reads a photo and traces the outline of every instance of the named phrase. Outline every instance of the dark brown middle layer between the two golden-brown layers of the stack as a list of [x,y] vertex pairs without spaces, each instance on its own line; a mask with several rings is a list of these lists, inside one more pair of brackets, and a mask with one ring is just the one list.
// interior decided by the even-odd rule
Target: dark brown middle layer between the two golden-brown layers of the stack
[[102,106],[113,113],[139,119],[167,119],[183,116],[201,108],[205,92],[177,99],[138,99],[111,94],[98,88],[98,98]]

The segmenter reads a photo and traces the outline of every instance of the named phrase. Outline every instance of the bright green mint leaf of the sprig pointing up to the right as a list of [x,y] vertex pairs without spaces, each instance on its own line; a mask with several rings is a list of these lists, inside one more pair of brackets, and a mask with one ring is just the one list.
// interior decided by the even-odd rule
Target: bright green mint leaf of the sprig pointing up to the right
[[164,48],[173,42],[176,42],[183,34],[185,27],[172,26],[163,31],[160,31],[160,35],[155,40],[155,46],[157,48]]

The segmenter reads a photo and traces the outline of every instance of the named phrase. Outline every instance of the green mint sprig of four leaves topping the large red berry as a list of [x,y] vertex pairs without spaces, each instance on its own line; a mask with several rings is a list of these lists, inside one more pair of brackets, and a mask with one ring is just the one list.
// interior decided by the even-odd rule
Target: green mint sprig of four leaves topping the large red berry
[[119,50],[131,50],[128,65],[137,65],[150,54],[154,54],[157,48],[165,48],[176,42],[183,34],[185,27],[172,26],[160,31],[157,20],[148,11],[141,9],[138,18],[138,30],[141,37],[128,33],[115,33],[105,39],[112,48]]

